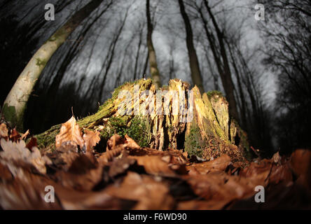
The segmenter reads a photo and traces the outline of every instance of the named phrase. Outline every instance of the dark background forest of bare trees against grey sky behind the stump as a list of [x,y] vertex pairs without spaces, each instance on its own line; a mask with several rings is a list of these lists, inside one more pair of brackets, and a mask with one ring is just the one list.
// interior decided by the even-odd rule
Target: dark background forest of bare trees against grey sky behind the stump
[[[90,2],[0,1],[1,105],[34,52]],[[54,21],[44,19],[46,3]],[[254,18],[256,3],[264,21]],[[153,42],[160,83],[179,78],[223,92],[265,156],[310,147],[310,1],[153,0],[146,9],[146,0],[101,1],[46,64],[24,127],[48,130],[68,120],[71,107],[87,116],[118,85],[151,77]]]

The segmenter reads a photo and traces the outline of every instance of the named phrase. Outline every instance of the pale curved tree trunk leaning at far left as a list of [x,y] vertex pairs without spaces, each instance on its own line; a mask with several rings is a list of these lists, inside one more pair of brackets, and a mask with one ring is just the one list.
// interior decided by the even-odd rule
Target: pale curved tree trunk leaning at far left
[[4,102],[3,113],[6,120],[22,130],[22,120],[25,108],[44,67],[55,51],[66,41],[68,36],[94,11],[104,0],[93,0],[78,10],[39,50],[34,54],[16,80]]

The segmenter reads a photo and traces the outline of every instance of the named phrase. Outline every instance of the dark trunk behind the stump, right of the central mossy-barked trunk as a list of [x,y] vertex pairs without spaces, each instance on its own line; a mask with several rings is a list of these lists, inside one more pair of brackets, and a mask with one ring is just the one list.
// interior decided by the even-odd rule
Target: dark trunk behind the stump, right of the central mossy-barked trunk
[[185,10],[183,0],[179,0],[179,9],[180,9],[181,16],[184,20],[185,27],[186,27],[186,43],[187,43],[187,48],[188,48],[191,78],[193,80],[193,84],[198,86],[200,92],[203,93],[204,87],[203,87],[203,80],[202,80],[202,75],[200,71],[200,66],[199,66],[198,55],[193,45],[193,31],[192,31],[190,20]]

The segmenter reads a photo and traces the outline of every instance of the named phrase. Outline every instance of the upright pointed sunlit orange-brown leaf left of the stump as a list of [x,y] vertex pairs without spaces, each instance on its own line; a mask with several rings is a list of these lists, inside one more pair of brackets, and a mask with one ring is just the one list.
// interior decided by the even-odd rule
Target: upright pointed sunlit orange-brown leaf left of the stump
[[72,116],[67,123],[62,124],[60,134],[57,134],[55,139],[55,146],[56,148],[60,148],[62,144],[67,142],[70,142],[70,144],[73,145],[78,145],[81,148],[84,146],[82,132],[79,125],[76,123],[74,116]]

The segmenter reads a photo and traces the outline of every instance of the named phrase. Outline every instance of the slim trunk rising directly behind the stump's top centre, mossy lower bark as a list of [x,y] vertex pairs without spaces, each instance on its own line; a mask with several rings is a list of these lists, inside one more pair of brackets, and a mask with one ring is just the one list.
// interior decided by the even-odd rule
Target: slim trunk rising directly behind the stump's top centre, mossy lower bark
[[147,45],[148,45],[148,59],[149,59],[149,66],[150,66],[150,73],[151,78],[155,84],[156,88],[161,87],[161,79],[160,79],[160,72],[158,69],[157,58],[155,55],[155,49],[153,46],[152,41],[152,34],[153,34],[153,25],[151,22],[151,15],[150,15],[150,0],[146,0],[146,16],[147,16]]

